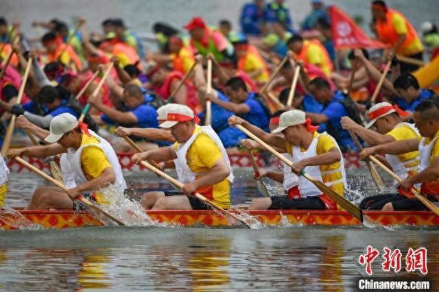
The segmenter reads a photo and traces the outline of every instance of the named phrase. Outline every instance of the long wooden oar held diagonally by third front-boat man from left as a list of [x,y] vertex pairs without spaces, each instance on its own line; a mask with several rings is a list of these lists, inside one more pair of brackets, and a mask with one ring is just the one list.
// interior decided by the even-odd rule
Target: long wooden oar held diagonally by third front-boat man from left
[[[277,158],[279,158],[280,160],[285,162],[290,167],[293,165],[293,162],[291,160],[289,160],[288,158],[286,158],[282,154],[278,153],[278,151],[276,151],[273,147],[271,147],[270,145],[268,145],[267,143],[262,141],[255,134],[253,134],[252,132],[247,130],[245,127],[243,127],[241,125],[235,125],[235,127],[237,127],[239,130],[244,132],[244,134],[246,134],[247,136],[252,138],[254,141],[257,141],[265,149],[270,151],[272,154],[274,154],[274,156],[276,156]],[[316,180],[315,178],[311,177],[311,175],[308,175],[307,173],[305,173],[305,171],[302,171],[300,173],[300,175],[302,175],[304,178],[306,178],[307,180],[312,182],[322,193],[324,193],[325,195],[327,195],[328,197],[333,199],[335,202],[337,202],[337,204],[339,204],[342,208],[344,208],[344,210],[350,212],[353,215],[353,217],[355,217],[359,221],[363,222],[363,211],[360,208],[358,208],[357,206],[355,206],[354,204],[349,202],[344,197],[335,193],[335,191],[331,190],[331,188],[329,188],[329,186],[325,185],[323,182],[320,182],[320,180]]]

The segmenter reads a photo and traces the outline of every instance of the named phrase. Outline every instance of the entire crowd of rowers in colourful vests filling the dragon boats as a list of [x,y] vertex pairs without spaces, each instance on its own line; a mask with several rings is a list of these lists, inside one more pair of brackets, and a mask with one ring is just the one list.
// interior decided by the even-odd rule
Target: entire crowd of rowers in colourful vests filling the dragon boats
[[[389,11],[383,1],[374,1],[372,12],[377,25],[380,19],[388,17]],[[396,13],[392,10],[392,16]],[[402,20],[406,27],[412,27],[407,19]],[[279,21],[272,23],[274,31]],[[122,191],[127,188],[115,153],[133,149],[123,140],[112,145],[99,136],[98,125],[104,123],[119,126],[117,136],[136,137],[144,152],[133,154],[134,162],[152,160],[160,162],[163,168],[175,168],[178,179],[184,183],[182,195],[143,195],[141,204],[145,209],[210,208],[192,196],[195,192],[228,208],[233,172],[226,148],[262,148],[235,125],[246,127],[294,162],[292,167],[285,165],[283,172],[261,173],[282,182],[285,196],[254,199],[249,207],[252,210],[337,209],[332,199],[300,173],[305,170],[344,195],[342,153],[357,151],[348,131],[371,146],[361,151],[361,157],[377,155],[404,179],[398,193],[368,197],[361,202],[361,208],[424,210],[425,206],[407,191],[411,186],[420,188],[432,202],[438,202],[439,108],[434,92],[420,88],[409,72],[413,68],[394,58],[377,104],[368,103],[370,95],[354,100],[346,93],[350,83],[353,91],[366,85],[376,86],[381,77],[381,62],[391,60],[394,53],[409,51],[410,47],[418,49],[410,56],[422,55],[422,44],[413,29],[395,30],[401,39],[396,38],[390,44],[392,49],[380,60],[369,58],[366,49],[348,53],[348,58],[355,60],[353,82],[348,75],[333,72],[331,58],[318,40],[294,34],[285,42],[287,62],[279,67],[280,75],[261,94],[261,86],[278,65],[273,61],[276,58],[263,58],[263,49],[248,40],[230,42],[227,35],[209,27],[199,17],[185,26],[190,35],[187,41],[178,34],[166,37],[164,32],[169,27],[155,27],[166,37],[165,45],[160,53],[147,54],[146,60],[152,65],[145,70],[137,38],[119,19],[102,23],[104,36],[100,40],[88,38],[84,19],[80,20],[80,38],[69,35],[67,27],[59,21],[36,25],[50,29],[42,38],[43,51],[30,49],[23,34],[18,44],[3,46],[5,52],[14,51],[16,59],[11,58],[9,66],[5,66],[0,81],[0,107],[4,110],[3,121],[11,114],[18,115],[17,127],[38,136],[46,145],[10,149],[8,155],[43,158],[62,154],[60,168],[69,191],[39,187],[27,206],[29,209],[80,208],[75,203],[80,194],[105,204],[105,196],[99,190],[109,184]],[[6,29],[6,34],[11,31]],[[69,36],[78,40],[65,43]],[[19,105],[15,104],[21,85],[19,70],[25,68],[27,60],[32,62],[32,70]],[[273,64],[268,64],[270,60]],[[212,89],[210,74],[206,72],[210,62]],[[99,88],[104,77],[95,73],[110,66],[110,75]],[[293,103],[288,105],[297,67],[300,78]],[[84,86],[86,90],[79,94]],[[373,89],[370,90],[372,93]],[[272,93],[278,93],[274,98],[278,103],[272,104],[273,99],[267,98]],[[212,103],[211,124],[200,126],[206,119],[207,102]],[[86,104],[91,104],[91,110],[84,122],[78,121]],[[364,114],[369,120],[366,126]]]

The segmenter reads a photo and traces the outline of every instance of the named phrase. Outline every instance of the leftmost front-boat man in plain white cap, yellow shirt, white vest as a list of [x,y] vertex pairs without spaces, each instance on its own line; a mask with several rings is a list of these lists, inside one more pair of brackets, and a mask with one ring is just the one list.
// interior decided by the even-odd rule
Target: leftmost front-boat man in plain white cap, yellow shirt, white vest
[[34,192],[28,209],[77,209],[74,200],[84,195],[97,202],[104,202],[102,193],[96,192],[113,184],[121,191],[126,189],[119,160],[110,143],[88,130],[69,113],[60,114],[50,122],[50,132],[45,146],[11,149],[9,156],[45,158],[62,154],[60,166],[64,192],[57,186],[40,186]]

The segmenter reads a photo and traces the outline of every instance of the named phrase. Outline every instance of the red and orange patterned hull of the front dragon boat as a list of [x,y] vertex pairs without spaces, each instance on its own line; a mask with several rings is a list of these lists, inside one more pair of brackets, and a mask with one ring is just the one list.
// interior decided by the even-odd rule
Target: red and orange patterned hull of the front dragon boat
[[[21,214],[44,228],[78,228],[88,226],[102,226],[97,218],[88,212],[73,212],[71,210],[19,210]],[[147,211],[154,220],[173,226],[209,226],[230,227],[226,217],[210,210],[166,210]],[[308,210],[261,210],[252,211],[251,215],[257,217],[266,226],[285,226],[288,224],[304,226],[358,226],[361,223],[345,211],[308,211]],[[0,217],[0,229],[13,230],[18,226],[14,219],[5,219],[8,215]],[[395,211],[364,212],[366,220],[383,226],[439,226],[439,216],[427,211]],[[368,219],[367,219],[368,217]],[[12,223],[12,224],[11,224]]]

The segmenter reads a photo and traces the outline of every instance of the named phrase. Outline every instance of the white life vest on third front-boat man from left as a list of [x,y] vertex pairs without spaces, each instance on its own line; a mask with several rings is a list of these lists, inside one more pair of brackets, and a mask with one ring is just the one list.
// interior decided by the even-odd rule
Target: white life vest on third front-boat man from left
[[[309,148],[305,152],[301,151],[300,146],[293,146],[292,147],[292,149],[293,149],[292,161],[294,163],[296,163],[296,162],[299,162],[300,160],[303,160],[305,158],[311,158],[311,157],[317,156],[317,143],[318,143],[319,137],[322,135],[327,135],[327,133],[322,133],[322,134],[318,134],[317,136],[315,136],[313,138],[313,141],[311,142],[311,145],[309,145]],[[340,168],[333,169],[331,171],[320,171],[320,165],[315,165],[315,166],[307,166],[307,167],[305,167],[305,169],[303,169],[303,171],[305,171],[305,173],[307,173],[308,175],[311,175],[316,180],[320,180],[320,182],[324,182],[324,184],[329,186],[329,187],[333,186],[334,184],[343,183],[344,188],[346,188],[346,173],[344,171],[344,160],[343,160],[343,156],[342,156],[342,151],[340,150],[340,147],[338,147],[335,139],[332,136],[330,136],[330,137],[331,137],[331,139],[333,139],[334,144],[336,145],[338,151],[340,152],[340,156],[341,156]],[[337,172],[340,172],[342,174],[342,178],[340,180],[324,181],[322,178],[322,175],[327,175],[327,174],[337,173]],[[302,197],[320,196],[320,199],[322,199],[322,201],[324,202],[325,206],[327,206],[328,209],[336,209],[337,208],[337,204],[335,204],[335,202],[333,202],[332,199],[330,199],[326,195],[322,194],[322,191],[320,191],[312,182],[307,180],[303,175],[300,175],[298,180],[299,180],[298,187],[300,190],[300,195],[302,195]]]

